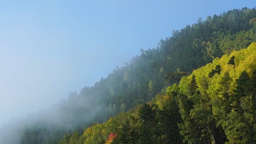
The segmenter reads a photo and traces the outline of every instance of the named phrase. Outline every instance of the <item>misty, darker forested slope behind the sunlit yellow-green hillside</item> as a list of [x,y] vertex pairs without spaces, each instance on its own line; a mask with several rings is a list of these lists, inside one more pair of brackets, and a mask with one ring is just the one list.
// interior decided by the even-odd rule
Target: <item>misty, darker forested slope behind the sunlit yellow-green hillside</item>
[[255,9],[234,9],[173,31],[172,37],[161,40],[156,49],[141,50],[140,56],[115,69],[106,79],[71,93],[49,110],[28,116],[14,130],[21,133],[21,143],[56,143],[68,131],[82,133],[92,122],[106,122],[164,93],[183,75],[212,59],[256,41],[255,17]]

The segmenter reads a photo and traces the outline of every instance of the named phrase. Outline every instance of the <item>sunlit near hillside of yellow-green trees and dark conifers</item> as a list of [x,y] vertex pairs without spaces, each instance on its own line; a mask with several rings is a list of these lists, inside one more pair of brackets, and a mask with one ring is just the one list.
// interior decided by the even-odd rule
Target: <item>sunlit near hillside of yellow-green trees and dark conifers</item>
[[65,143],[256,143],[256,43]]

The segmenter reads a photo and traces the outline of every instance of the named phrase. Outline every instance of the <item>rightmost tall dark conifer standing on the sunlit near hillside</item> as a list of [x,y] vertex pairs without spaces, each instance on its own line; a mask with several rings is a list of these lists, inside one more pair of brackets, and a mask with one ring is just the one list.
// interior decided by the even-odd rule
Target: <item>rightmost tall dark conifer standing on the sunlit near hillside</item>
[[250,98],[250,81],[248,73],[243,71],[236,80],[234,95],[230,97],[232,110],[228,114],[225,128],[225,134],[230,143],[255,142],[253,138],[254,125],[250,122],[253,116],[248,113],[252,101]]

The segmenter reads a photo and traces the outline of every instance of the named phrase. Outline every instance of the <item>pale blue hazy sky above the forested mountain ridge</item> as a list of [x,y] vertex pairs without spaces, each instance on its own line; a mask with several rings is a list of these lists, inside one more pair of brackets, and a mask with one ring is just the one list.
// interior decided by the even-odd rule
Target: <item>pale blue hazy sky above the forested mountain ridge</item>
[[0,1],[0,124],[58,103],[226,1]]

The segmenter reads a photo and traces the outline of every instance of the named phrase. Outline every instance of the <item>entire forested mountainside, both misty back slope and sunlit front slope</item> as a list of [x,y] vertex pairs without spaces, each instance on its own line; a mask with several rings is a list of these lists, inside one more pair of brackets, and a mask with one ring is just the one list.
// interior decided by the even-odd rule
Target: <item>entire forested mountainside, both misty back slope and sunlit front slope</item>
[[200,18],[0,143],[256,143],[255,31],[255,8]]

